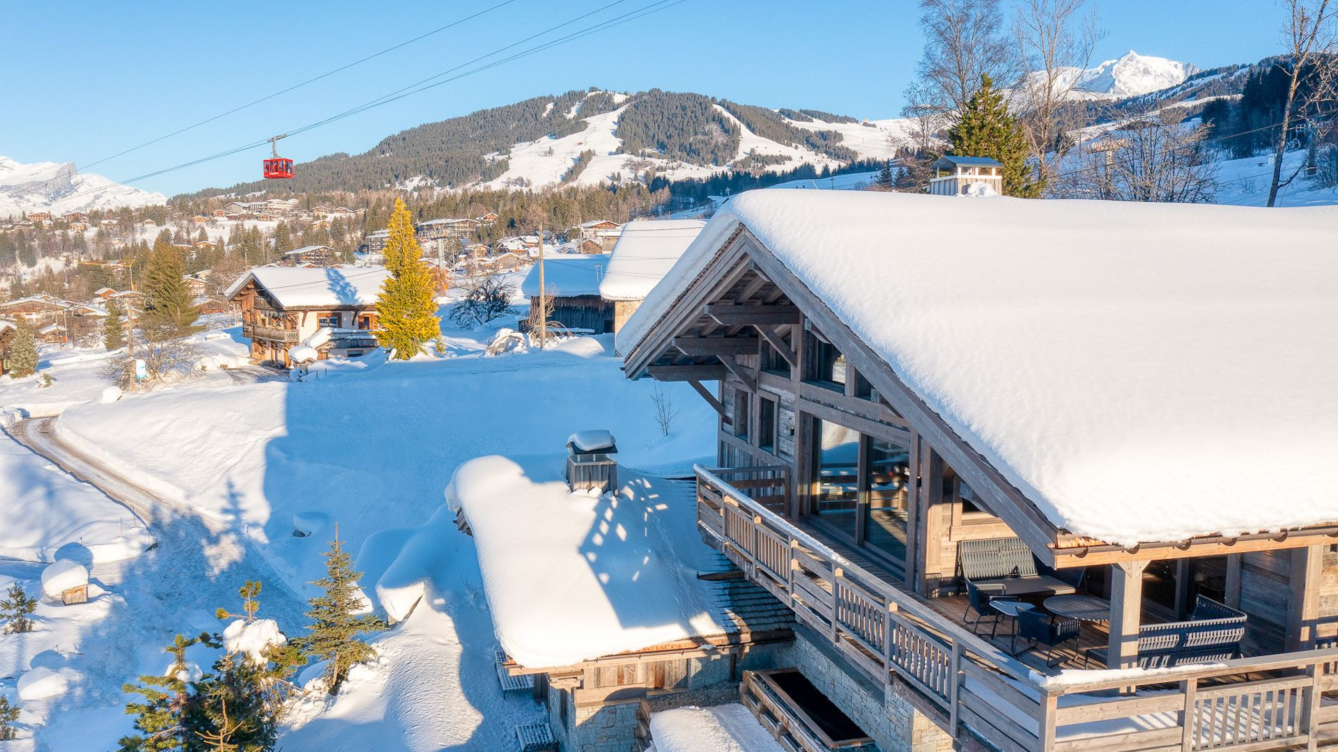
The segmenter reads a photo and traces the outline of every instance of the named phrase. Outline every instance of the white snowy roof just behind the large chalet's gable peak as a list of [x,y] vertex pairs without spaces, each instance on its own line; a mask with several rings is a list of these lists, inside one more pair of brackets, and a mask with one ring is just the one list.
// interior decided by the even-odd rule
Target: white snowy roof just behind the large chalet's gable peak
[[641,300],[673,268],[706,223],[701,219],[637,219],[622,226],[599,282],[603,300]]

